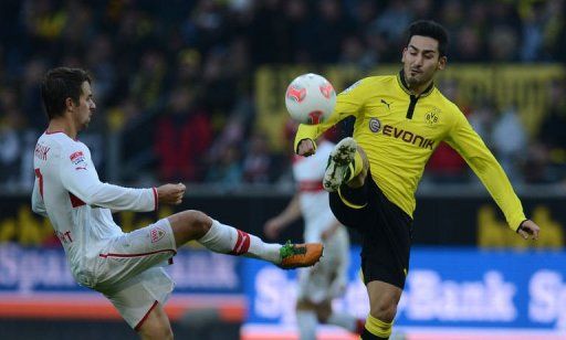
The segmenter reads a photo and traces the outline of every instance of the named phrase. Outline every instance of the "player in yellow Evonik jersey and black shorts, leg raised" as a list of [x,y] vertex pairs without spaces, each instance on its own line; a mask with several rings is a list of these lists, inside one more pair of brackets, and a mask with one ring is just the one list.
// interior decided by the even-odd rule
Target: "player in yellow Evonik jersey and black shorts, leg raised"
[[361,272],[370,310],[361,339],[388,339],[409,268],[415,191],[440,141],[470,164],[503,211],[511,230],[538,238],[503,169],[461,110],[434,87],[447,65],[448,36],[433,21],[409,28],[397,75],[364,78],[337,97],[323,124],[301,125],[295,152],[315,152],[314,140],[337,121],[356,117],[353,138],[331,153],[324,188],[336,217],[364,235]]

